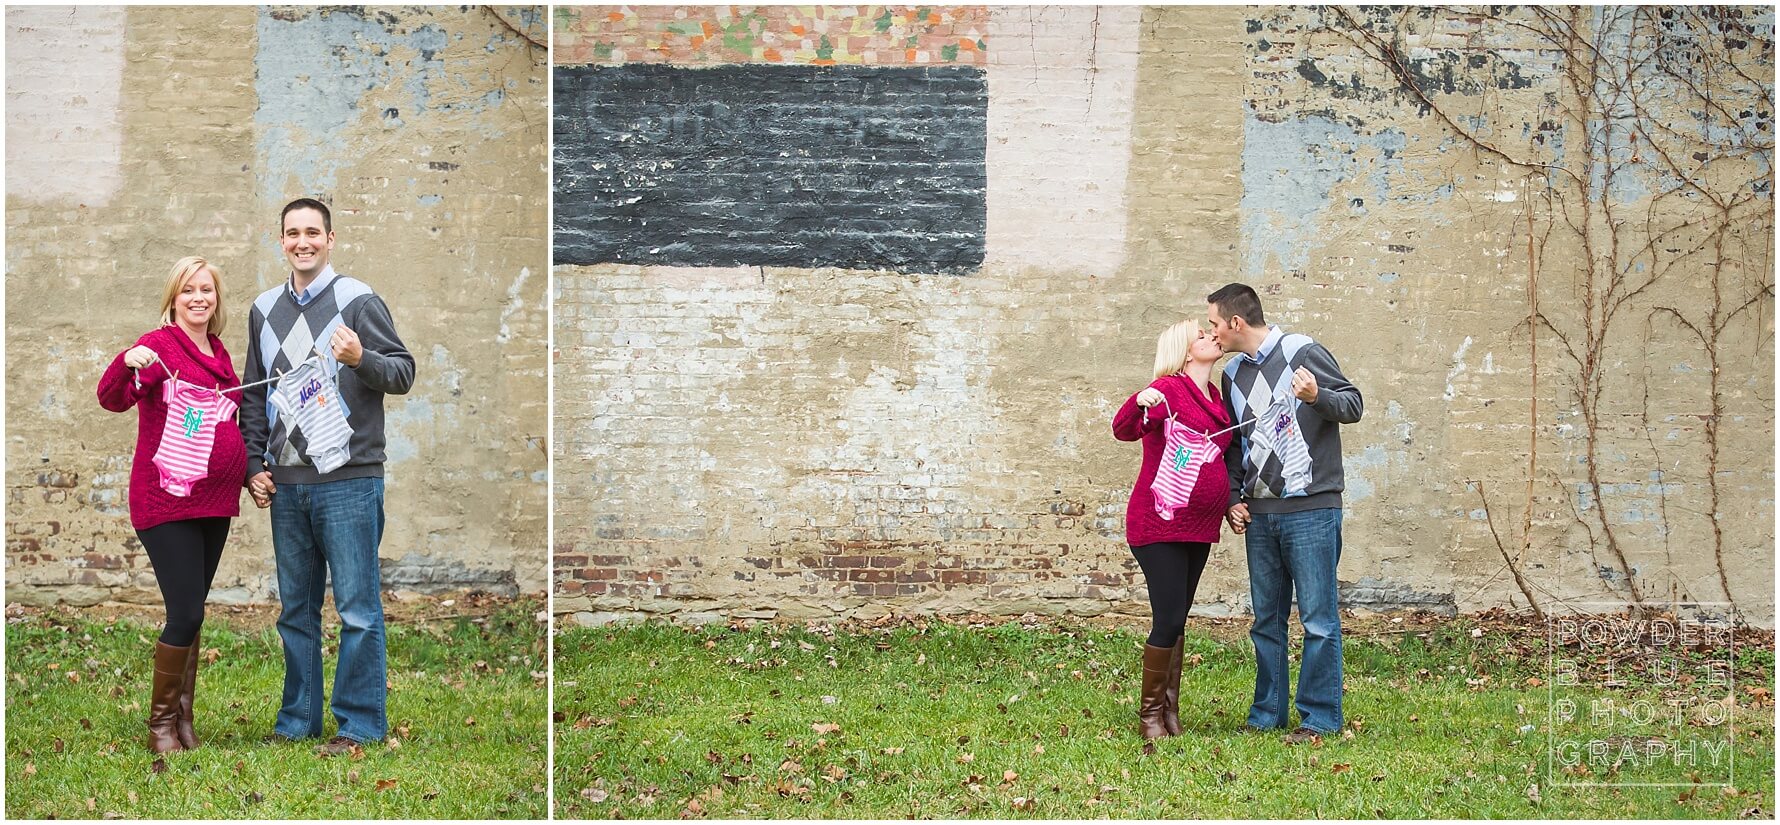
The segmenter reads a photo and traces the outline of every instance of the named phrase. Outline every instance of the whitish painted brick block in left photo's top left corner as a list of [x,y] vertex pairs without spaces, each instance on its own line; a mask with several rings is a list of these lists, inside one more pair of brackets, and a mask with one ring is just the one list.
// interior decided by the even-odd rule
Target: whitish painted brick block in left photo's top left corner
[[5,11],[5,191],[103,207],[123,185],[121,7]]

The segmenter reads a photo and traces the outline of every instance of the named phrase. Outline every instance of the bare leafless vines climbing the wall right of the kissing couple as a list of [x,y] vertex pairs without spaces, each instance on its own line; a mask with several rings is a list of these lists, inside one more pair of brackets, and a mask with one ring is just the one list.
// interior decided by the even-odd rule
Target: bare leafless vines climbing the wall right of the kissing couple
[[[1543,588],[1527,581],[1524,565],[1533,551],[1531,481],[1538,478],[1540,337],[1556,342],[1559,372],[1581,419],[1582,485],[1591,504],[1572,499],[1574,520],[1588,533],[1590,552],[1611,560],[1630,604],[1652,608],[1652,583],[1632,565],[1627,540],[1609,515],[1609,485],[1600,469],[1613,424],[1629,419],[1623,397],[1609,392],[1625,378],[1609,369],[1609,351],[1623,356],[1618,347],[1645,344],[1622,330],[1639,310],[1646,328],[1661,321],[1684,330],[1711,371],[1707,412],[1698,413],[1705,435],[1700,456],[1709,499],[1705,515],[1712,527],[1718,586],[1736,604],[1725,563],[1719,490],[1721,371],[1728,335],[1741,330],[1739,324],[1760,324],[1762,308],[1771,308],[1775,298],[1773,84],[1762,80],[1773,73],[1775,43],[1771,21],[1757,27],[1757,14],[1760,9],[1727,7],[1323,11],[1321,32],[1388,71],[1422,116],[1435,118],[1479,157],[1522,169],[1531,184],[1527,189],[1538,192],[1543,228],[1533,226],[1531,200],[1525,216],[1534,435],[1518,552],[1509,552],[1509,542],[1497,533],[1493,519],[1490,522],[1506,567],[1534,613],[1541,613],[1534,590]],[[1422,43],[1433,32],[1467,32],[1465,45],[1445,53],[1412,46],[1412,37]],[[1536,107],[1536,123],[1525,123],[1524,143],[1509,143],[1520,130],[1501,128],[1522,116],[1483,96],[1463,102],[1479,110],[1460,112],[1461,103],[1444,94],[1436,77],[1442,61],[1511,66],[1504,57],[1506,43],[1522,55],[1549,59],[1558,71],[1554,93]],[[1483,62],[1472,62],[1479,59]],[[1543,267],[1554,267],[1545,273],[1547,285],[1558,282],[1574,290],[1552,301],[1558,312],[1540,306]],[[1659,283],[1664,303],[1655,303],[1652,292]],[[1755,337],[1764,339],[1759,326]],[[1648,374],[1643,378],[1646,401],[1636,426],[1648,433]],[[1654,438],[1646,442],[1657,458]],[[1485,495],[1481,483],[1477,492]],[[1486,513],[1488,506],[1485,495]],[[1671,529],[1666,499],[1663,522],[1664,531]]]

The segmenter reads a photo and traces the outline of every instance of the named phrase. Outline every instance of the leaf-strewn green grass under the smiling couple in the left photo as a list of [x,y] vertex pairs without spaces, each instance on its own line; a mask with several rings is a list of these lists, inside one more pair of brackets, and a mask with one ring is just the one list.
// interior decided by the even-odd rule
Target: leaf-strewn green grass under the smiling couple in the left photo
[[[351,757],[271,745],[283,654],[271,617],[212,609],[198,679],[203,747],[144,747],[157,625],[7,613],[7,818],[545,816],[545,656],[536,599],[388,625],[390,739]],[[219,615],[222,613],[222,615]],[[338,624],[329,608],[328,691]],[[328,718],[329,736],[333,716]]]

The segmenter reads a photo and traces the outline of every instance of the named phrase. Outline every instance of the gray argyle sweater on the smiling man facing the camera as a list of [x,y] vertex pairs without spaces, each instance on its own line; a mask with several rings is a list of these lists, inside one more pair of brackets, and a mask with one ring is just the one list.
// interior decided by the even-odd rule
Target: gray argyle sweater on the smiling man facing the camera
[[[329,280],[331,276],[331,280]],[[415,385],[415,356],[395,335],[390,308],[365,282],[322,271],[310,285],[312,298],[299,305],[290,280],[260,292],[247,315],[247,371],[242,383],[260,381],[274,371],[288,372],[313,349],[322,353],[322,367],[340,385],[352,438],[344,467],[320,474],[310,462],[303,429],[292,431],[269,399],[271,387],[242,390],[240,435],[247,442],[247,478],[272,470],[272,483],[313,485],[349,478],[383,476],[383,396],[406,394]],[[358,335],[365,355],[358,367],[333,360],[328,339],[345,324]]]

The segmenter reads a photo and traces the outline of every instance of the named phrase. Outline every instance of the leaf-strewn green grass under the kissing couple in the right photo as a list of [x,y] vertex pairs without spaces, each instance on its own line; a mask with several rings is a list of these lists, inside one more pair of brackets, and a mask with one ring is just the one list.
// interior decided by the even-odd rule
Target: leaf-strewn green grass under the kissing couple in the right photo
[[[1346,640],[1347,729],[1242,731],[1239,622],[1189,627],[1187,732],[1134,731],[1141,636],[1088,625],[662,624],[555,649],[562,818],[1736,818],[1773,811],[1773,636],[1737,654],[1718,768],[1565,772],[1538,627],[1452,620]],[[1406,627],[1406,629],[1404,629]],[[1296,633],[1296,627],[1294,627]],[[1474,636],[1476,633],[1476,636]],[[1296,659],[1294,659],[1296,661]],[[1661,697],[1652,682],[1584,693]],[[1584,697],[1586,698],[1586,697]],[[1732,732],[1734,729],[1734,732]],[[1734,739],[1734,741],[1732,741]],[[1723,782],[1736,772],[1730,788]],[[1664,780],[1673,788],[1584,788]],[[1695,784],[1698,782],[1698,784]]]

